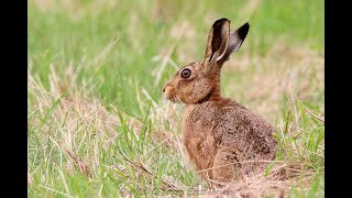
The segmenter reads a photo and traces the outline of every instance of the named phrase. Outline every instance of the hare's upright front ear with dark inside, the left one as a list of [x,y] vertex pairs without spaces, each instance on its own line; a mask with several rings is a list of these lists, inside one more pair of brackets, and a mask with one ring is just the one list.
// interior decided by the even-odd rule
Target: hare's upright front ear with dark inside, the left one
[[230,21],[228,19],[219,19],[212,24],[208,36],[206,61],[218,62],[222,59],[228,48],[229,35]]

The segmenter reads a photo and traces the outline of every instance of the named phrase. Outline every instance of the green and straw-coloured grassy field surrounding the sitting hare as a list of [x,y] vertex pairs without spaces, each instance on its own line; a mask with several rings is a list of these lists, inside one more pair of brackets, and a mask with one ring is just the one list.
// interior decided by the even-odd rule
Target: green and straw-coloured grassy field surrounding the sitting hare
[[[237,195],[324,197],[323,1],[28,1],[29,197],[212,196],[162,86],[201,61],[212,22],[251,29],[222,95],[268,120],[283,153]],[[273,180],[272,173],[285,179]]]

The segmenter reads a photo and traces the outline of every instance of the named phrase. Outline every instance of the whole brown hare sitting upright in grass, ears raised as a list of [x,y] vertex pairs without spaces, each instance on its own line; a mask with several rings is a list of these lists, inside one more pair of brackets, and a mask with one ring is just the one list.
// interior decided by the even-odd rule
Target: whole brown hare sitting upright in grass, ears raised
[[202,62],[194,62],[169,79],[165,98],[186,103],[182,132],[190,161],[212,185],[263,173],[275,158],[274,128],[237,101],[220,96],[220,70],[239,51],[250,25],[230,33],[228,19],[210,30]]

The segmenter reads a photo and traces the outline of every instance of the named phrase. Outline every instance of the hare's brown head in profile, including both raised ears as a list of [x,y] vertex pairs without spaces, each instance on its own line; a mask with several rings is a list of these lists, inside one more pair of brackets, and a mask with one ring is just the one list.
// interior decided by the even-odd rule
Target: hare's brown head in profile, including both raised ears
[[220,69],[231,53],[239,51],[249,30],[249,23],[244,23],[230,33],[230,21],[217,20],[208,36],[205,59],[184,66],[165,84],[166,99],[187,105],[219,99]]

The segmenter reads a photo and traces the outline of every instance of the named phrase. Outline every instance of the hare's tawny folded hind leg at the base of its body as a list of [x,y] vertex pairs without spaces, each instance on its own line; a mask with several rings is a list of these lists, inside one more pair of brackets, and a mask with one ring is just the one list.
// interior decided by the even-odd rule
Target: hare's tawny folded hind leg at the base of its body
[[239,177],[235,162],[234,152],[229,150],[218,151],[212,165],[212,179],[219,183],[229,183],[234,177]]

